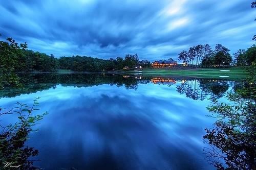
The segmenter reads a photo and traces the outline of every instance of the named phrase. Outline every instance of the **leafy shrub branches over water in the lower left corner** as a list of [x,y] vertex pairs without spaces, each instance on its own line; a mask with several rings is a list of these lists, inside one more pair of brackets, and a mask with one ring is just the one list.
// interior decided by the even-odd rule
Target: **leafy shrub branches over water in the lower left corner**
[[[0,116],[8,114],[17,114],[17,122],[12,125],[2,126],[2,133],[0,134],[0,168],[13,169],[12,167],[4,167],[7,162],[13,162],[12,165],[18,165],[20,169],[28,169],[33,161],[28,160],[31,156],[36,156],[38,151],[34,148],[25,147],[25,142],[29,139],[29,134],[33,131],[37,122],[41,120],[47,112],[34,115],[34,111],[39,110],[38,100],[34,100],[33,105],[30,107],[27,104],[17,102],[17,107],[7,111],[0,112]],[[4,109],[0,109],[4,110]]]

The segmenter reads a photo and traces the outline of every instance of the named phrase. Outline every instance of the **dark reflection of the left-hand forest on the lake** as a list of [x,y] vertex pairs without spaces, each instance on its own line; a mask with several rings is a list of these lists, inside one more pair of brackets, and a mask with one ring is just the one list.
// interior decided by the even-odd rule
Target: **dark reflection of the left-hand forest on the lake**
[[[146,78],[129,79],[120,75],[102,74],[20,74],[18,75],[21,88],[4,88],[0,90],[0,98],[14,97],[20,94],[29,94],[37,91],[56,88],[57,85],[74,87],[91,87],[95,85],[110,84],[117,87],[124,86],[126,89],[137,89],[138,84],[149,83]],[[138,76],[139,77],[139,76]]]

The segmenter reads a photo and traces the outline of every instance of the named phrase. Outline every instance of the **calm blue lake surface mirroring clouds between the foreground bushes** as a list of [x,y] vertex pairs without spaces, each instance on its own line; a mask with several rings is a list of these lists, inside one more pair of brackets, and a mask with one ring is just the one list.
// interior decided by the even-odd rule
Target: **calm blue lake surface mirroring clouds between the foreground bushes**
[[[215,169],[205,159],[208,98],[226,101],[236,82],[89,74],[22,75],[0,104],[32,103],[49,114],[27,144],[45,169]],[[40,112],[37,112],[40,113]],[[14,121],[14,117],[9,118]]]

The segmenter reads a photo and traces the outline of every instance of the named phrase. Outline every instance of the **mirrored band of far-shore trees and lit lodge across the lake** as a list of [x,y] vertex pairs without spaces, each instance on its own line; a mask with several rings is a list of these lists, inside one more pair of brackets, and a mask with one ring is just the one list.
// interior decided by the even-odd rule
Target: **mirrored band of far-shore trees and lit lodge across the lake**
[[[29,94],[37,91],[56,88],[57,85],[73,87],[91,87],[95,85],[110,84],[126,89],[137,89],[139,84],[164,84],[171,86],[181,80],[177,85],[180,94],[186,94],[187,98],[204,100],[207,95],[212,98],[221,98],[227,91],[229,83],[225,80],[208,79],[181,79],[167,77],[145,78],[141,75],[102,75],[102,74],[20,74],[22,88],[5,88],[0,90],[0,97],[14,97],[20,94]],[[239,87],[238,83],[234,87]]]

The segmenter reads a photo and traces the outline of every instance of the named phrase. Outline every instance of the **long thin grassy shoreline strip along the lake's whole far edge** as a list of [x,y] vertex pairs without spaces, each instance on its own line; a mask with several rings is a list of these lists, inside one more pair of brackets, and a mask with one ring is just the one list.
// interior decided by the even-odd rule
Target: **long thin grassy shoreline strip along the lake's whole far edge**
[[[223,71],[228,70],[228,71]],[[10,73],[10,72],[9,72]],[[144,68],[135,70],[114,71],[32,71],[14,72],[15,74],[117,74],[117,75],[141,75],[143,77],[189,77],[189,78],[214,78],[224,80],[243,80],[248,75],[243,67],[221,67],[221,68],[194,68],[194,69],[166,69],[166,68]]]

